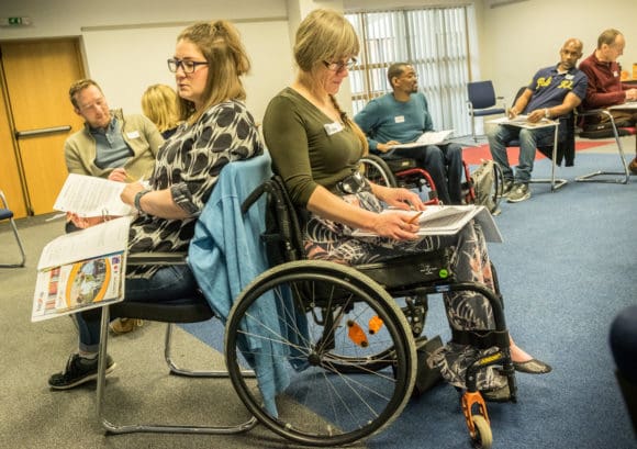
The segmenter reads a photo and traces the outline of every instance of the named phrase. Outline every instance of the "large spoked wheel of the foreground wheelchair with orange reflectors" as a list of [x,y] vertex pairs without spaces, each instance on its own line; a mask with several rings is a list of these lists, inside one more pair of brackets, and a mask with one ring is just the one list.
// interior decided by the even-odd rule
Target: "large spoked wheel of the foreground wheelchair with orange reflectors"
[[[343,369],[365,367],[379,353],[387,355],[382,369]],[[393,299],[355,269],[325,261],[288,262],[255,279],[231,311],[225,357],[254,416],[313,446],[346,445],[382,430],[404,408],[416,372],[414,339]],[[276,363],[273,403],[242,375],[246,358]]]

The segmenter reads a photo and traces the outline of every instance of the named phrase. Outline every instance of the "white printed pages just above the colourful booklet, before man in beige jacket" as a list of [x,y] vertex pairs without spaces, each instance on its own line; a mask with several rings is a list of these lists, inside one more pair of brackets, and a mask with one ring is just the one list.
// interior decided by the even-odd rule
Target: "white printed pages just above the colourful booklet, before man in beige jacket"
[[75,212],[80,216],[130,215],[134,212],[134,207],[120,199],[125,186],[124,182],[70,173],[53,209]]

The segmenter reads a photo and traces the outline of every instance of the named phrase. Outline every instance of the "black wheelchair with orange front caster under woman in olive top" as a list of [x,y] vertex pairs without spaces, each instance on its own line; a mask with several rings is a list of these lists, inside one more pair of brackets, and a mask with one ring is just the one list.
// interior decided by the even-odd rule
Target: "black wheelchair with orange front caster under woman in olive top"
[[[457,281],[447,250],[355,267],[308,260],[302,212],[292,205],[282,180],[275,176],[257,188],[243,203],[244,213],[261,195],[268,215],[261,239],[271,268],[235,299],[224,341],[230,379],[258,422],[297,444],[320,447],[381,431],[412,395],[428,295],[473,291],[489,300],[495,329],[468,332],[468,338],[496,350],[469,367],[460,403],[473,445],[491,447],[476,373],[498,366],[507,378],[510,400],[516,400],[500,294]],[[245,372],[259,361],[272,368],[255,369],[255,381]]]

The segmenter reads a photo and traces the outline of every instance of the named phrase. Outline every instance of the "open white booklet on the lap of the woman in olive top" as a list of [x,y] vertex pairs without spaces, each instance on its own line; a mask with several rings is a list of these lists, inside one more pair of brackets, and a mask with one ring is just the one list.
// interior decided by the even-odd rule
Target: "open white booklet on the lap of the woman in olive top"
[[[385,209],[381,213],[395,211],[395,209]],[[414,216],[418,212],[413,212]],[[462,227],[474,220],[484,234],[487,242],[502,243],[502,234],[493,221],[493,216],[483,205],[428,205],[417,217],[421,225],[417,235],[454,235]],[[351,233],[356,237],[376,237],[375,233],[356,229]]]

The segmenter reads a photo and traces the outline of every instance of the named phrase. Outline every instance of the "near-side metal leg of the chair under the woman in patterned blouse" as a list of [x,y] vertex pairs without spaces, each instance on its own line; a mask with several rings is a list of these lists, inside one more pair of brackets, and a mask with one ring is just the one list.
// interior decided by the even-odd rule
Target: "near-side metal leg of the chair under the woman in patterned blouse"
[[257,425],[257,419],[252,416],[247,422],[234,426],[182,426],[182,425],[158,425],[158,424],[133,424],[116,425],[104,417],[103,400],[105,393],[107,378],[107,349],[109,338],[109,306],[102,307],[102,321],[100,327],[100,352],[98,356],[98,391],[97,391],[97,414],[98,419],[107,434],[133,434],[133,433],[155,433],[155,434],[205,434],[205,435],[231,435],[247,431]]

